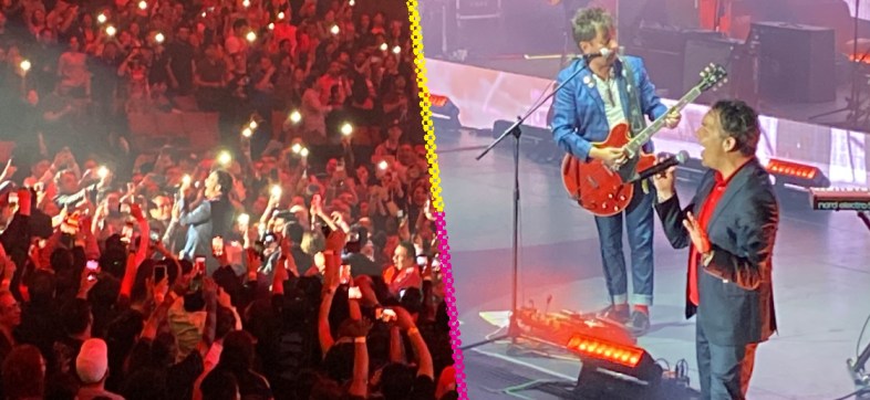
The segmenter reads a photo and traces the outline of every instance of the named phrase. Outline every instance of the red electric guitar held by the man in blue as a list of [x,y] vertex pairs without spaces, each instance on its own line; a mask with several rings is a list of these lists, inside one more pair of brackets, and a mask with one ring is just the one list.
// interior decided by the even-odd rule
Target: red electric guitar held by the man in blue
[[650,124],[634,137],[630,136],[629,126],[615,126],[603,143],[592,144],[594,147],[622,148],[628,161],[617,168],[608,167],[601,160],[583,162],[571,155],[562,160],[562,181],[565,189],[580,207],[599,217],[610,217],[622,212],[634,194],[634,186],[625,185],[648,168],[655,165],[655,156],[643,152],[642,147],[663,126],[665,116],[680,112],[702,93],[721,85],[727,72],[722,66],[710,64],[701,72],[701,82],[686,93],[671,109]]

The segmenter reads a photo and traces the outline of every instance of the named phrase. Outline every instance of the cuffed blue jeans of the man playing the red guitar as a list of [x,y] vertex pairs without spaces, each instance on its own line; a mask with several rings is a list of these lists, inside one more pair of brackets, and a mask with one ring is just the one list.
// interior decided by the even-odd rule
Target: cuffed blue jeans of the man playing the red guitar
[[615,304],[628,302],[629,281],[622,254],[622,220],[625,219],[631,246],[632,303],[652,305],[653,297],[653,201],[655,188],[649,183],[644,193],[640,182],[634,185],[634,197],[629,207],[612,217],[595,217],[601,241],[601,259],[608,293]]

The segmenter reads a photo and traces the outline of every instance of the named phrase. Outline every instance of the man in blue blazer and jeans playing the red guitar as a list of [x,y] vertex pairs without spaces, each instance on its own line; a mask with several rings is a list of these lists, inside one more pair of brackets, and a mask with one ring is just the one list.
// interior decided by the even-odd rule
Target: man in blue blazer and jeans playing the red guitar
[[[603,9],[581,9],[572,21],[573,39],[584,57],[559,73],[558,83],[571,78],[556,95],[550,122],[557,145],[580,160],[598,159],[607,165],[621,165],[626,155],[621,148],[600,148],[610,130],[621,124],[633,134],[645,126],[644,116],[655,119],[667,107],[655,95],[655,86],[646,76],[638,57],[619,56],[613,20]],[[603,55],[602,55],[603,54]],[[676,127],[680,115],[669,115],[666,126]],[[652,151],[652,145],[644,146]],[[625,323],[634,335],[650,327],[649,306],[653,301],[653,199],[649,182],[638,182],[629,207],[612,217],[595,217],[601,242],[604,278],[611,305],[602,317]],[[622,254],[623,214],[631,245],[632,303],[629,309],[625,259]]]

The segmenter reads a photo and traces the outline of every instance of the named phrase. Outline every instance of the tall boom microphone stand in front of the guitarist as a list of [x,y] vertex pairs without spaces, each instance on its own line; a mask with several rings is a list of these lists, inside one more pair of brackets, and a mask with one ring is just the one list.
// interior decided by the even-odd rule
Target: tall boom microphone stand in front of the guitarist
[[518,242],[518,238],[519,238],[519,139],[522,136],[522,130],[521,130],[520,127],[526,122],[526,119],[528,119],[529,116],[531,116],[535,112],[537,112],[538,108],[540,108],[550,98],[556,96],[556,94],[559,93],[559,91],[562,87],[565,87],[566,84],[568,84],[569,82],[573,81],[577,77],[577,75],[580,75],[581,72],[586,71],[589,67],[589,61],[593,56],[594,55],[583,56],[583,60],[586,61],[586,64],[582,67],[580,67],[577,71],[574,71],[567,80],[565,80],[565,82],[562,82],[559,86],[557,86],[555,90],[552,90],[552,92],[550,92],[550,94],[548,94],[540,102],[538,102],[538,104],[534,105],[526,113],[526,115],[524,115],[521,117],[518,116],[517,117],[517,122],[514,123],[514,125],[511,125],[510,127],[505,129],[505,131],[501,134],[501,136],[499,136],[497,139],[495,139],[493,141],[493,144],[490,144],[486,149],[484,149],[483,152],[480,152],[479,156],[475,157],[475,160],[479,161],[490,150],[493,150],[493,148],[495,148],[499,143],[505,140],[506,137],[514,136],[514,221],[512,221],[514,222],[514,227],[512,227],[512,241],[514,242],[512,242],[512,248],[511,248],[511,250],[512,250],[512,259],[511,259],[511,261],[512,261],[512,269],[514,269],[512,273],[514,273],[514,276],[512,276],[511,298],[510,298],[510,319],[509,319],[509,323],[508,323],[507,334],[503,334],[503,335],[499,335],[499,336],[496,336],[496,337],[493,337],[493,338],[489,338],[489,339],[486,339],[486,340],[483,340],[483,341],[478,341],[478,343],[475,343],[475,344],[472,344],[472,345],[463,346],[463,347],[459,348],[460,350],[472,349],[472,348],[475,348],[475,347],[479,347],[479,346],[483,346],[483,345],[487,345],[487,344],[490,344],[490,343],[494,343],[494,341],[504,340],[504,339],[508,339],[508,338],[510,339],[511,344],[516,344],[517,338],[522,336],[522,333],[520,331],[519,326],[517,325],[517,310],[518,310],[517,309],[517,296],[518,296],[517,281],[518,281],[518,277],[519,277],[519,267],[518,267],[519,260],[518,260],[518,256],[517,256],[518,250],[519,250],[519,242]]

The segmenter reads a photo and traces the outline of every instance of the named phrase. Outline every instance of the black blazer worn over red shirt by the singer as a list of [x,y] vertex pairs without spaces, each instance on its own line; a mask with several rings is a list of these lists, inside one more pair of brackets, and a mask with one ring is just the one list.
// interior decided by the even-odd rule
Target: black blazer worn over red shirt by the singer
[[[698,215],[714,185],[711,170],[685,209],[676,196],[655,206],[674,249],[692,244],[683,227],[685,213]],[[769,176],[753,159],[734,175],[707,224],[715,253],[706,267],[698,264],[697,307],[688,301],[686,285],[686,318],[697,314],[710,343],[743,346],[767,340],[776,330],[771,269],[778,223]]]

